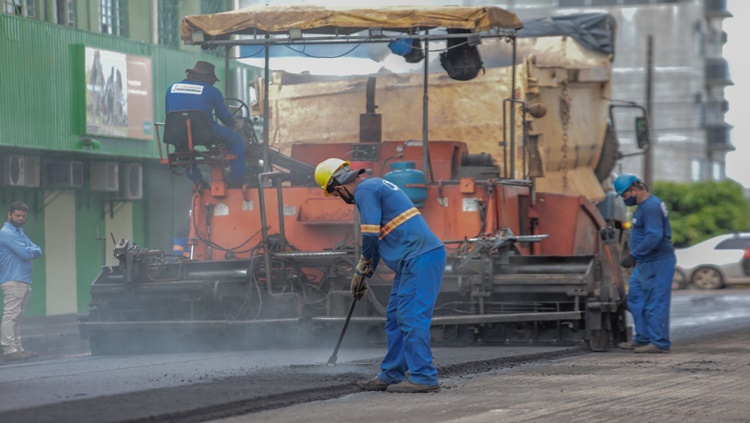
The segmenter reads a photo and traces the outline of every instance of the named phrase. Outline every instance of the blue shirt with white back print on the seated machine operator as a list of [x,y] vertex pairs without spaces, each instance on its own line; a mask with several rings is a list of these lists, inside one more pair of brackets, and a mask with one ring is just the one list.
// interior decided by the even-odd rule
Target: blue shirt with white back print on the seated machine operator
[[188,79],[175,82],[167,88],[164,104],[167,113],[177,110],[201,110],[211,120],[215,110],[216,117],[225,126],[232,128],[235,125],[232,113],[224,104],[224,95],[211,84]]

